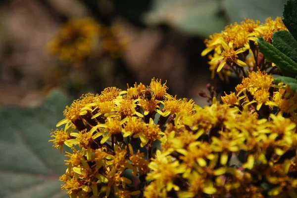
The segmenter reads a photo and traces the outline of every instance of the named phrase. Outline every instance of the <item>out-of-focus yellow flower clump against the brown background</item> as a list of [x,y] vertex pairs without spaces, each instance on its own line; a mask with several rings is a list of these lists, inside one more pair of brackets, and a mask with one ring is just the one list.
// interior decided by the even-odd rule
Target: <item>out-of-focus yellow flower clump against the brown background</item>
[[47,47],[49,53],[61,61],[76,63],[89,57],[97,45],[111,57],[118,58],[128,44],[129,39],[123,34],[122,26],[103,26],[88,17],[70,19]]

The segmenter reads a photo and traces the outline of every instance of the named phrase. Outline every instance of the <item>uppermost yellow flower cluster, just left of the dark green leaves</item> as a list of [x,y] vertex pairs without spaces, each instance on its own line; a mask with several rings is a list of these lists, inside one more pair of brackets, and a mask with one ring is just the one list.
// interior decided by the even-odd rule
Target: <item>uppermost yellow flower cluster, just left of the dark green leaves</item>
[[268,18],[263,24],[245,19],[241,24],[231,24],[221,33],[211,35],[205,40],[206,49],[201,53],[205,56],[213,51],[213,54],[208,56],[211,77],[214,77],[215,72],[221,80],[228,81],[232,72],[240,78],[245,77],[247,73],[244,67],[248,67],[250,71],[256,70],[257,67],[261,71],[267,71],[272,64],[264,61],[255,40],[262,37],[271,43],[273,33],[281,30],[288,31],[281,17],[275,20]]

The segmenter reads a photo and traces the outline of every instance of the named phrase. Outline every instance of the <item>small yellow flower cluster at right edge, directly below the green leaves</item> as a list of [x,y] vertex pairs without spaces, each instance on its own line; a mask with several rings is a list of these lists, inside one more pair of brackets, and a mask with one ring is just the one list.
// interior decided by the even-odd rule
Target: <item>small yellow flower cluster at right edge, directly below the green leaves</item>
[[242,83],[235,87],[236,92],[221,97],[222,102],[243,109],[256,111],[262,118],[269,118],[271,113],[292,117],[297,120],[297,93],[287,85],[273,84],[271,75],[265,72],[249,73]]

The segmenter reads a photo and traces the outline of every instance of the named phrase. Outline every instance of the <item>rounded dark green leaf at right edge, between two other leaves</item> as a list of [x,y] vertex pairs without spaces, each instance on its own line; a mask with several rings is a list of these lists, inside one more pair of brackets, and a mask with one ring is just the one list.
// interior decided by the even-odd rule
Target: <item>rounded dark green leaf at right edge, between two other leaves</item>
[[297,40],[288,31],[273,33],[272,44],[297,63]]

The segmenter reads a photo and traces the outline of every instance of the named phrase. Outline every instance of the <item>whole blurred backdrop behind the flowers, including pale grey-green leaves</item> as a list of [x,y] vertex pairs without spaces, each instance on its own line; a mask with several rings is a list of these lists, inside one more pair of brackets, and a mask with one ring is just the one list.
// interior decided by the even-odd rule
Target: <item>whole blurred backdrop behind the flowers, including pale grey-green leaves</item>
[[65,157],[48,141],[83,93],[155,77],[204,106],[207,83],[233,90],[236,79],[210,79],[203,41],[244,18],[281,16],[285,1],[0,0],[0,197],[68,197]]

